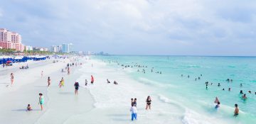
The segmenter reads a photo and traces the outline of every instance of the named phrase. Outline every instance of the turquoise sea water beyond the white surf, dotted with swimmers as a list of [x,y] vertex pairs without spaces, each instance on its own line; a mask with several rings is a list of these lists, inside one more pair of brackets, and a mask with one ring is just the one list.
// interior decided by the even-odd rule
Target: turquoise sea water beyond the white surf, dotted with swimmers
[[[197,113],[223,120],[235,120],[238,123],[256,123],[256,57],[96,56],[95,58],[107,62],[110,67],[122,68],[122,64],[130,65],[127,68],[131,68],[132,71],[127,74],[131,78],[154,87],[159,94]],[[136,64],[144,67],[134,67]],[[153,72],[151,72],[152,67],[154,67]],[[145,69],[145,73],[142,69]],[[196,81],[198,77],[201,79]],[[233,81],[228,82],[226,79]],[[206,89],[206,81],[209,82],[208,89]],[[213,85],[210,85],[211,83]],[[218,83],[220,83],[219,87]],[[231,88],[231,91],[228,91],[228,88]],[[240,90],[247,95],[247,100],[241,98]],[[252,94],[248,91],[252,91]],[[220,100],[218,112],[213,104],[216,96]],[[238,103],[240,108],[238,118],[233,117],[235,103]]]

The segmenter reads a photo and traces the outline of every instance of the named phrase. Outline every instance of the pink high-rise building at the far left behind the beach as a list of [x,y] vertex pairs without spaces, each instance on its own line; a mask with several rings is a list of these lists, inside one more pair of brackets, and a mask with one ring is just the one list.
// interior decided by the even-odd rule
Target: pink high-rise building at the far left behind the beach
[[15,49],[20,52],[24,50],[24,45],[21,43],[21,35],[5,28],[0,28],[0,47],[3,49]]

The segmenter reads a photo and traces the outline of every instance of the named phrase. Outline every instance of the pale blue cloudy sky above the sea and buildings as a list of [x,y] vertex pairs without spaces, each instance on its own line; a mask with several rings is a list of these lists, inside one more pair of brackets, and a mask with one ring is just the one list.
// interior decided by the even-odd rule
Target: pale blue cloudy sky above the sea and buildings
[[256,55],[255,0],[1,0],[22,43],[114,55]]

